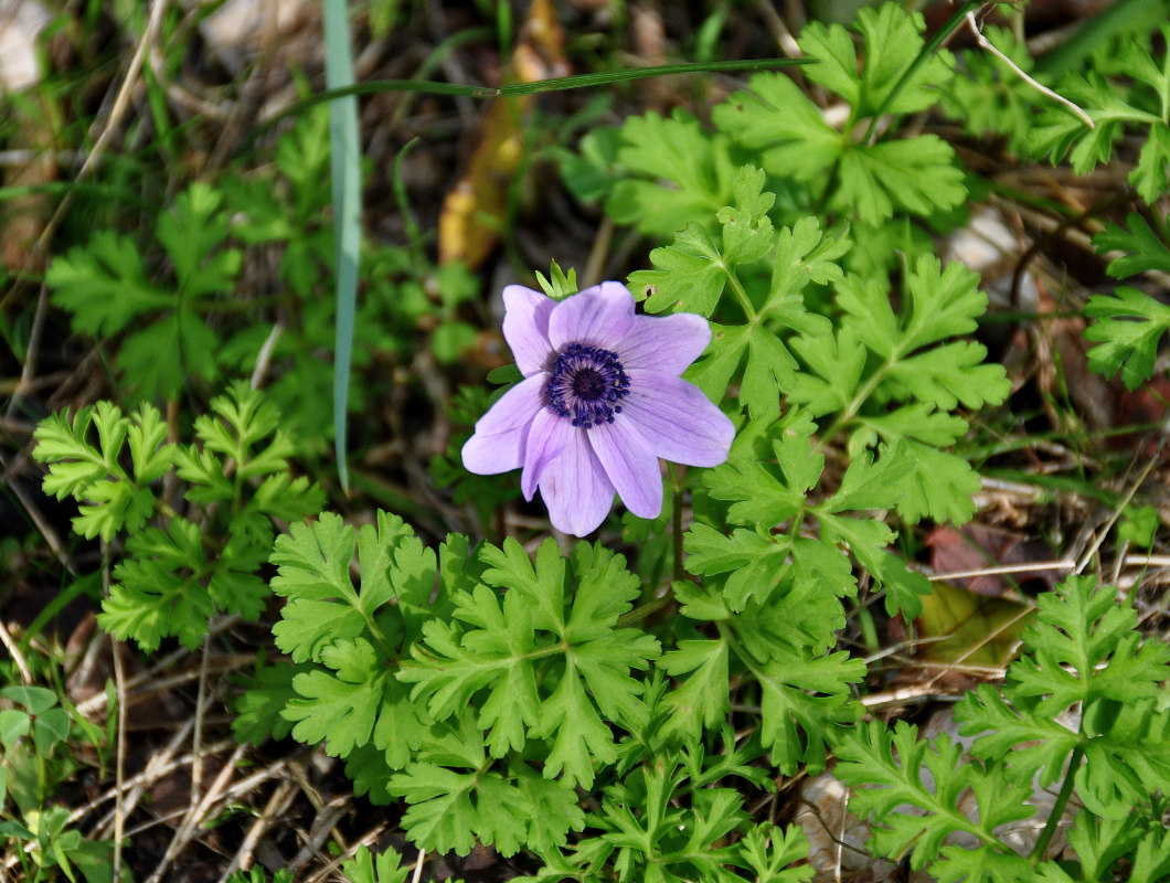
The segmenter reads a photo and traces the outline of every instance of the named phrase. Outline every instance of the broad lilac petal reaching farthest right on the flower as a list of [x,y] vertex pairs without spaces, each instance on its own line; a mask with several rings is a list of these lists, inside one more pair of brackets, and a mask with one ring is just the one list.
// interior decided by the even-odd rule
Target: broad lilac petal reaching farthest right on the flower
[[668,374],[631,371],[629,395],[621,406],[618,419],[628,420],[663,460],[718,465],[728,458],[735,426],[694,384]]

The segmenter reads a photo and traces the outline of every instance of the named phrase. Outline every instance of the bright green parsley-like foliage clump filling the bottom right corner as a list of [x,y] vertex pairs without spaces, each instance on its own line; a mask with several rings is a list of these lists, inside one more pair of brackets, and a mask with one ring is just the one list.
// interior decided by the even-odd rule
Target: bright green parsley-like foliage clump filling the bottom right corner
[[[1080,805],[1068,840],[1083,879],[1114,878],[1122,860],[1142,864],[1133,879],[1161,878],[1170,869],[1161,826],[1170,794],[1170,649],[1143,641],[1136,626],[1133,607],[1086,577],[1041,595],[1003,689],[984,684],[955,709],[961,732],[978,737],[975,759],[947,734],[920,741],[904,722],[844,732],[837,774],[858,788],[851,806],[879,823],[872,848],[909,856],[911,868],[929,867],[942,881],[1071,879],[1041,860],[1066,809]],[[1025,857],[997,828],[1035,813],[1034,782],[1062,784]],[[968,794],[977,812],[958,808]],[[948,840],[957,834],[966,840]]]

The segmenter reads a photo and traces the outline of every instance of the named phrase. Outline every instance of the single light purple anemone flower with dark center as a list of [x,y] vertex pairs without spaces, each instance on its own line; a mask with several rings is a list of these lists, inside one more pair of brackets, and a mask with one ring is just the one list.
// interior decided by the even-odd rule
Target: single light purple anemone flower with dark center
[[475,425],[463,465],[477,475],[523,469],[552,525],[584,537],[617,491],[642,518],[662,511],[659,457],[718,465],[735,428],[680,375],[711,339],[702,316],[634,315],[620,282],[553,301],[504,289],[504,339],[524,380]]

